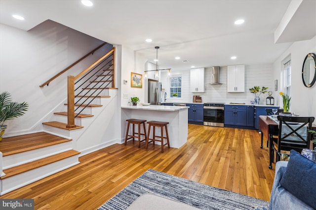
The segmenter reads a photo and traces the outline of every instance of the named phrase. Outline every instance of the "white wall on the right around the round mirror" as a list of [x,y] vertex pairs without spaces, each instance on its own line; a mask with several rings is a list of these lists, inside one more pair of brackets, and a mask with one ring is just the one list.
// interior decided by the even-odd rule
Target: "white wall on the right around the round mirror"
[[[273,64],[274,77],[280,84],[282,60],[291,55],[291,112],[296,112],[300,116],[313,116],[316,118],[316,85],[312,88],[306,88],[302,82],[303,62],[308,53],[316,53],[316,36],[311,40],[294,42]],[[284,91],[280,86],[279,91]],[[281,97],[278,96],[278,100]],[[280,104],[280,102],[279,102]]]

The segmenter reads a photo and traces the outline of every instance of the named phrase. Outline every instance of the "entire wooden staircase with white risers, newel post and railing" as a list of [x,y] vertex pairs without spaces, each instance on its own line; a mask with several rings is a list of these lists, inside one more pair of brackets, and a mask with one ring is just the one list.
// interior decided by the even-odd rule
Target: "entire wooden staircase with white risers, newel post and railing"
[[[115,52],[115,49],[110,52]],[[104,58],[115,58],[108,57],[110,52],[76,77],[94,75],[93,69],[89,71],[93,66],[103,62]],[[101,70],[112,74],[95,75],[94,80],[93,75],[88,76],[86,81],[79,84],[79,88],[88,84],[80,92],[79,88],[75,89],[75,77],[68,76],[68,99],[63,108],[58,107],[56,112],[51,113],[49,119],[52,121],[42,122],[44,132],[3,138],[0,142],[0,195],[79,164],[77,140],[85,132],[85,126],[89,127],[95,116],[103,111],[103,105],[110,104],[111,93],[117,94],[117,88],[114,88],[114,60],[108,63],[112,69]],[[48,85],[49,81],[45,84]],[[108,88],[109,85],[111,86]],[[98,90],[98,93],[93,94],[94,90]],[[73,109],[74,107],[78,109]]]

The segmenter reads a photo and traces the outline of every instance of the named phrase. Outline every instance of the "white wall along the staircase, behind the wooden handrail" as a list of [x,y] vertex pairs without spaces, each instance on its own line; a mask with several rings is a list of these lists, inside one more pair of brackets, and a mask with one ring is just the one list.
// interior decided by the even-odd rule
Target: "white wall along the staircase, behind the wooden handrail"
[[41,120],[67,97],[67,76],[77,75],[108,50],[97,51],[48,87],[39,86],[102,43],[53,21],[29,31],[0,24],[0,92],[10,92],[13,101],[29,103],[24,116],[5,122],[9,125],[5,136],[42,130]]

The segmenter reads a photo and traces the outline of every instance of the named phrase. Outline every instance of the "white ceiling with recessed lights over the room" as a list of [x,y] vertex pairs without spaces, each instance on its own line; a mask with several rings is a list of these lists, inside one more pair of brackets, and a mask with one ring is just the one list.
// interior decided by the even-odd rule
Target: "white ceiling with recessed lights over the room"
[[[127,46],[154,63],[155,46],[159,46],[158,65],[173,70],[189,69],[191,65],[273,63],[292,41],[301,38],[287,37],[287,42],[275,44],[274,32],[290,0],[91,1],[92,7],[82,5],[80,0],[0,0],[0,23],[30,30],[50,19],[111,44]],[[312,12],[311,18],[315,18],[313,5],[298,11]],[[15,20],[12,14],[19,14],[25,20]],[[240,18],[245,23],[235,25]],[[308,22],[304,18],[296,15],[295,22],[290,23],[295,29],[295,25]],[[316,35],[315,31],[311,33],[310,38]],[[145,42],[146,38],[153,42]],[[175,60],[176,56],[181,59]],[[232,56],[237,59],[231,60]]]

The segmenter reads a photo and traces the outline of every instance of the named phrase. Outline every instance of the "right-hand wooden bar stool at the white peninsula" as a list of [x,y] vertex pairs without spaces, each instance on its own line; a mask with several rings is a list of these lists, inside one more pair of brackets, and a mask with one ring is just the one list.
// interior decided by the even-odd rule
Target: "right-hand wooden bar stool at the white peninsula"
[[[170,148],[168,128],[167,128],[167,124],[169,124],[169,122],[148,121],[147,123],[148,123],[148,134],[147,134],[147,140],[146,140],[146,150],[148,148],[149,143],[153,142],[153,145],[155,146],[155,141],[157,141],[157,142],[161,143],[161,153],[163,153],[163,147],[165,145],[168,145],[168,148]],[[149,138],[150,129],[152,126],[153,126],[153,138]],[[156,134],[155,134],[156,127],[161,128],[160,136],[156,136]],[[163,127],[165,128],[165,131],[166,131],[166,137],[163,136]],[[159,137],[160,139],[156,139],[156,137]],[[163,139],[166,139],[167,143],[163,144]],[[150,140],[152,140],[152,141],[150,141]]]

